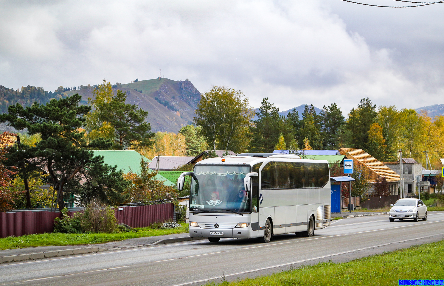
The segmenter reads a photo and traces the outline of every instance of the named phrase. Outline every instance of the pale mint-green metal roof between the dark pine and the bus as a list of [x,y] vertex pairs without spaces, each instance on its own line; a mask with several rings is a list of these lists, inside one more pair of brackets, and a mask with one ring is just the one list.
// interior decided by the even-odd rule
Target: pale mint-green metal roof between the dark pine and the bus
[[[94,150],[94,155],[103,156],[105,164],[110,166],[117,165],[117,170],[122,170],[123,173],[129,171],[140,174],[140,160],[150,163],[151,160],[147,157],[140,155],[135,150]],[[151,169],[150,169],[151,170]],[[166,179],[160,174],[155,175],[155,179],[164,181],[166,186],[174,186],[175,183]]]

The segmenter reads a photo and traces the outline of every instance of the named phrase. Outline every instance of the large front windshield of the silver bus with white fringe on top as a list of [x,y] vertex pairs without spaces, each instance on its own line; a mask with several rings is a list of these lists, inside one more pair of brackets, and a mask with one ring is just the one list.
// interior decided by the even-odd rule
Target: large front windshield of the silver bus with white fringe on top
[[190,209],[193,211],[231,210],[250,212],[249,193],[244,178],[250,166],[200,165],[191,180]]

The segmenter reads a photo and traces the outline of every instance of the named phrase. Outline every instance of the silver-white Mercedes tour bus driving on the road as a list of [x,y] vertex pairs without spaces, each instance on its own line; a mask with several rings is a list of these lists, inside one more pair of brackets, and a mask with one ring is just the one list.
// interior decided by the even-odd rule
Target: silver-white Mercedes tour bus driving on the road
[[325,160],[245,153],[202,160],[191,176],[190,237],[259,238],[330,225],[330,172]]

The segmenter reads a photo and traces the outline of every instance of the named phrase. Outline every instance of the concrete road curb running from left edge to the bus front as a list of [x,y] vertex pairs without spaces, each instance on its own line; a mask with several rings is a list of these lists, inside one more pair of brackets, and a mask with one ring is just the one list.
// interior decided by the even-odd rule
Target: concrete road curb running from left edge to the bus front
[[84,254],[84,253],[92,253],[92,252],[99,252],[99,251],[105,251],[105,250],[121,250],[121,249],[129,249],[129,248],[135,248],[135,247],[141,247],[141,246],[167,244],[167,243],[198,240],[198,239],[206,239],[206,237],[164,238],[164,239],[160,239],[160,240],[158,240],[154,243],[151,243],[151,244],[144,244],[144,245],[131,246],[131,247],[119,247],[119,248],[114,248],[114,249],[107,249],[107,248],[98,247],[98,246],[89,246],[89,247],[80,247],[80,248],[73,248],[73,249],[36,252],[36,253],[30,253],[30,254],[0,256],[0,263],[16,262],[16,261],[24,261],[24,260],[48,258],[48,257],[56,257],[56,256],[66,256],[66,255],[74,255],[74,254]]

